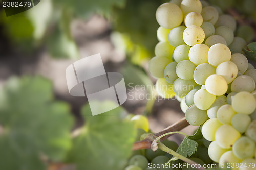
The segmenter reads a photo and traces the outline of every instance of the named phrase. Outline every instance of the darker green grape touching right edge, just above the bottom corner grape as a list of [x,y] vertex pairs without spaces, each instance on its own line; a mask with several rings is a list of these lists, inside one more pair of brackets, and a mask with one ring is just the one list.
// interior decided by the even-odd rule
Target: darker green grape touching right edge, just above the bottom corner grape
[[255,152],[255,142],[246,136],[242,136],[234,142],[232,151],[239,159],[252,158]]

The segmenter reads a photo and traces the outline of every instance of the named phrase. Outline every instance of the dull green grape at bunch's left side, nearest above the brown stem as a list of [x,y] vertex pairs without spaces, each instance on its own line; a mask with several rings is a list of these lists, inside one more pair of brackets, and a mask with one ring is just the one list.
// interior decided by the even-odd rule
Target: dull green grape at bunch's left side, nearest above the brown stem
[[208,119],[206,110],[200,110],[195,104],[187,108],[185,116],[187,122],[193,126],[200,126]]

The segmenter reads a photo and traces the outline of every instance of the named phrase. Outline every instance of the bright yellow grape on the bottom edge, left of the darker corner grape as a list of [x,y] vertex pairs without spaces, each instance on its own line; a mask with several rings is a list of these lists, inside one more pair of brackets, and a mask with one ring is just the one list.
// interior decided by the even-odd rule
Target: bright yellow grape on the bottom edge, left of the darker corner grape
[[[226,163],[240,163],[242,160],[236,157],[232,151],[227,151],[220,157],[219,166],[227,167]],[[225,165],[225,166],[224,166]],[[239,167],[239,166],[238,166]],[[238,167],[234,166],[232,170],[238,170]]]

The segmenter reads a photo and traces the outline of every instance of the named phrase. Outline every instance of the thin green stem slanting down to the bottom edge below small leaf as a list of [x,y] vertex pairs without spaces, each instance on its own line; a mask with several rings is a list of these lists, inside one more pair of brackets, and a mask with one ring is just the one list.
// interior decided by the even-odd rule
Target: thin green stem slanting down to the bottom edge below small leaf
[[[186,135],[186,134],[185,134],[185,135]],[[196,162],[194,162],[193,160],[188,159],[188,158],[186,158],[186,157],[184,157],[184,156],[178,154],[177,152],[175,152],[175,151],[172,150],[172,149],[169,149],[168,147],[166,147],[166,146],[165,146],[163,143],[161,143],[161,142],[158,142],[158,148],[159,148],[160,150],[164,151],[164,152],[167,152],[167,153],[169,153],[169,154],[171,154],[171,155],[177,157],[177,158],[180,159],[180,160],[183,160],[184,162],[189,163],[190,165],[195,165],[195,167],[196,167],[197,169],[199,169],[199,170],[206,170],[206,169],[203,168],[203,167],[198,167],[198,166],[197,166],[198,163],[196,163]],[[172,160],[172,159],[171,159],[171,160]],[[170,161],[171,161],[171,160],[170,160]],[[169,161],[168,163],[170,163],[170,161]]]

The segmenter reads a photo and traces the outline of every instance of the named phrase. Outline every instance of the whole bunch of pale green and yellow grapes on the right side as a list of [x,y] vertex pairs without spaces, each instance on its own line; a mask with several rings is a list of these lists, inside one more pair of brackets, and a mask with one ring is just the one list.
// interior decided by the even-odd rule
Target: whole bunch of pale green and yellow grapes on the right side
[[236,20],[200,0],[164,3],[156,19],[159,43],[148,69],[158,94],[175,96],[187,122],[202,125],[213,161],[256,168],[256,69],[243,54],[246,41],[234,36]]

